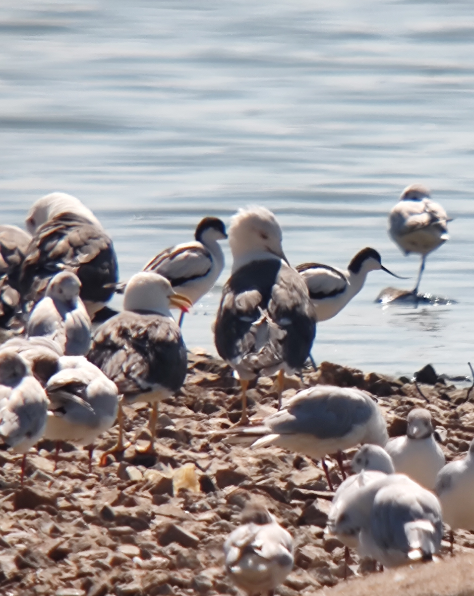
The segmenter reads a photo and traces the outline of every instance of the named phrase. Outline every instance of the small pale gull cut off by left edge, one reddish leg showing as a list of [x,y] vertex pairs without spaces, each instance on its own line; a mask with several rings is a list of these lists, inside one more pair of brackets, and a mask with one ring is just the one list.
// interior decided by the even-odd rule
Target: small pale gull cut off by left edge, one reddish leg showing
[[26,454],[42,437],[46,426],[48,398],[33,377],[27,362],[14,350],[0,352],[0,449],[23,454],[21,484]]

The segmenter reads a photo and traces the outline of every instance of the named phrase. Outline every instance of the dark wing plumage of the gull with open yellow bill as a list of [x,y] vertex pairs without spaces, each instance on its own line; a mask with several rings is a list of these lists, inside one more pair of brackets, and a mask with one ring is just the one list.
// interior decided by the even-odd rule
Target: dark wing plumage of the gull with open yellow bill
[[124,311],[98,328],[87,358],[119,393],[146,393],[160,384],[171,392],[183,385],[186,346],[178,325],[166,316]]

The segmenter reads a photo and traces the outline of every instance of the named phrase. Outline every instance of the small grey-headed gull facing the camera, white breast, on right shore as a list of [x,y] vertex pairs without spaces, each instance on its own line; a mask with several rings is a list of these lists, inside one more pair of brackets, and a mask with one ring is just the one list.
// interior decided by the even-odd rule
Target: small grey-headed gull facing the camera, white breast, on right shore
[[407,434],[394,437],[385,445],[395,470],[410,476],[432,491],[436,476],[445,464],[444,454],[435,440],[431,414],[423,408],[413,409],[407,418]]

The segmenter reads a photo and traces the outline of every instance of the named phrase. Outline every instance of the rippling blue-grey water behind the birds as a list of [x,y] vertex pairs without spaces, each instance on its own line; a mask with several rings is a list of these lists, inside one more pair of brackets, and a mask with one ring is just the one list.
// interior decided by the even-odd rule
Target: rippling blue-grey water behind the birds
[[[114,239],[126,280],[192,238],[205,215],[274,210],[290,262],[346,266],[364,246],[416,276],[387,236],[412,182],[454,218],[421,290],[457,301],[373,300],[373,272],[313,349],[364,370],[473,355],[474,3],[335,0],[2,0],[0,214],[22,225],[54,190],[77,195]],[[218,285],[184,323],[214,350]],[[409,287],[414,280],[396,280]],[[120,299],[114,300],[120,306]]]

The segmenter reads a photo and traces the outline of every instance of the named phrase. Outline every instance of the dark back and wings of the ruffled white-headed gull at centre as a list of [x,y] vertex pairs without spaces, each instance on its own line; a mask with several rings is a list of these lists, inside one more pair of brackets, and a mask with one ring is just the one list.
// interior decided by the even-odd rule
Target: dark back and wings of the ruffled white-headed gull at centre
[[253,261],[225,284],[215,345],[228,362],[246,359],[246,368],[255,374],[281,362],[299,369],[309,356],[315,333],[315,313],[305,281],[280,261]]

